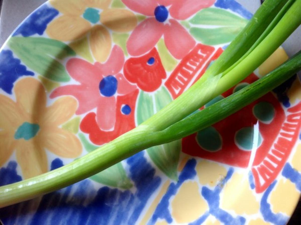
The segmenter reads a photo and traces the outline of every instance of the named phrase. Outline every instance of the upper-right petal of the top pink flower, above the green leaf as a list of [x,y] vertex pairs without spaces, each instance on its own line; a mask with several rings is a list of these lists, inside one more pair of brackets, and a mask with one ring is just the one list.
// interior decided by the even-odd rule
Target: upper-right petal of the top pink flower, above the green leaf
[[170,15],[177,20],[186,20],[203,8],[210,7],[216,0],[175,1],[169,8]]

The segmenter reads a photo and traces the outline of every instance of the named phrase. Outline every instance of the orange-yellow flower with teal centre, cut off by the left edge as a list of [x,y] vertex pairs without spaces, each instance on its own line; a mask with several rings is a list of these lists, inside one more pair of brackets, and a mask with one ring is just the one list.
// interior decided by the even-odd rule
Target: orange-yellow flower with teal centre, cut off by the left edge
[[79,139],[58,127],[74,115],[76,99],[62,97],[46,107],[45,89],[31,77],[18,81],[14,94],[16,102],[0,95],[0,167],[16,150],[26,179],[48,171],[45,149],[64,158],[82,153]]

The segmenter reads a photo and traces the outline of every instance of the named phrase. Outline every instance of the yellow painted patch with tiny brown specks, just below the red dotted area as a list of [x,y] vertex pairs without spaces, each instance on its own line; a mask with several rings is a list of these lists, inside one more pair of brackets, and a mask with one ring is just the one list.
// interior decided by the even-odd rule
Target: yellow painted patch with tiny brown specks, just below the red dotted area
[[209,160],[199,161],[196,170],[200,184],[209,185],[211,187],[216,186],[219,180],[223,179],[227,174],[225,167]]

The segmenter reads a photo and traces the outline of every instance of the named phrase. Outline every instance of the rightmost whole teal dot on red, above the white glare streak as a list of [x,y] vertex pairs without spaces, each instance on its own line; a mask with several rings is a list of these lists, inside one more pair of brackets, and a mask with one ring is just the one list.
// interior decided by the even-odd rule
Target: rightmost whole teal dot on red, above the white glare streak
[[275,109],[269,102],[259,102],[253,107],[253,114],[261,122],[270,123],[275,116]]

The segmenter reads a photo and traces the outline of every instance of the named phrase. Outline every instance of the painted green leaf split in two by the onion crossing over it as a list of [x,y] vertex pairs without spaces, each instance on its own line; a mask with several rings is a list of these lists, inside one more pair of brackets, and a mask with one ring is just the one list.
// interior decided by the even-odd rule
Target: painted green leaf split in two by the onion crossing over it
[[[162,109],[172,98],[165,87],[161,87],[155,93],[140,92],[136,111],[138,124],[151,117],[155,112]],[[147,154],[154,164],[172,180],[178,180],[178,161],[181,152],[181,140],[173,141],[164,145],[148,148]]]

